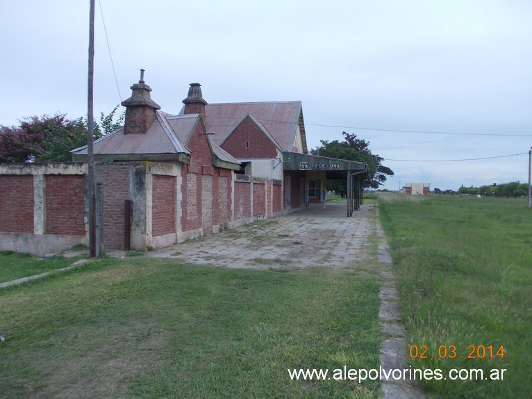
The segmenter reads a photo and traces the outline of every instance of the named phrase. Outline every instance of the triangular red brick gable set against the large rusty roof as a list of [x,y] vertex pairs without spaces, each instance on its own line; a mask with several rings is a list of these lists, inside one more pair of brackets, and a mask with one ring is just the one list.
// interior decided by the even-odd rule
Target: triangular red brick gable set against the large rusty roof
[[[248,147],[246,147],[246,142]],[[276,147],[272,140],[247,117],[231,133],[222,148],[235,158],[275,158]]]

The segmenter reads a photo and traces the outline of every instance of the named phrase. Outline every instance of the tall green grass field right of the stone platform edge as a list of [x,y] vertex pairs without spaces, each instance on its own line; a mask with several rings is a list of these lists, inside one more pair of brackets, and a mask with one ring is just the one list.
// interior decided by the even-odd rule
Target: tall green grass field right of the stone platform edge
[[[425,380],[436,397],[517,398],[532,392],[532,210],[526,200],[383,196],[379,199],[417,368],[506,368],[502,381]],[[456,357],[440,359],[440,345]],[[472,349],[493,356],[467,359]],[[503,345],[504,357],[496,350]],[[434,358],[432,358],[434,356]]]

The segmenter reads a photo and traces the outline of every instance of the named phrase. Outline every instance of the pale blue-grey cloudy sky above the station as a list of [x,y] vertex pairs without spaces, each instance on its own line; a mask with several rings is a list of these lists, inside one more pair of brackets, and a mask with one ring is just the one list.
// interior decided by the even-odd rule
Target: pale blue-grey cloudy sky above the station
[[[0,124],[84,115],[90,1],[0,4]],[[342,131],[369,140],[395,172],[384,188],[528,179],[532,1],[96,0],[96,11],[96,115],[144,68],[169,113],[191,82],[210,103],[300,100],[309,147]]]

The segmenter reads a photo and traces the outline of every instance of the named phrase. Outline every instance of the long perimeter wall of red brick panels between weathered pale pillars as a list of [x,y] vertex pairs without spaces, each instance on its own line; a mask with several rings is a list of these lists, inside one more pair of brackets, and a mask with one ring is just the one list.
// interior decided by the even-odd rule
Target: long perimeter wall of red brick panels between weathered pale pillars
[[[44,255],[88,245],[87,165],[0,165],[0,250]],[[103,250],[165,247],[281,213],[282,182],[181,163],[97,163]],[[125,202],[131,202],[131,217]]]

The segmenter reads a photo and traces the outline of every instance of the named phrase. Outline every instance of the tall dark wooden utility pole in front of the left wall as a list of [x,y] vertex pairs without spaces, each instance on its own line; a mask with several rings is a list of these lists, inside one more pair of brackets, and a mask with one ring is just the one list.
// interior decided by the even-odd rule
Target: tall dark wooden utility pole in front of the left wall
[[90,0],[89,16],[89,76],[88,76],[88,101],[87,101],[87,163],[88,163],[88,200],[89,200],[89,256],[96,256],[96,240],[94,234],[94,136],[92,128],[93,99],[92,91],[94,86],[94,0]]

